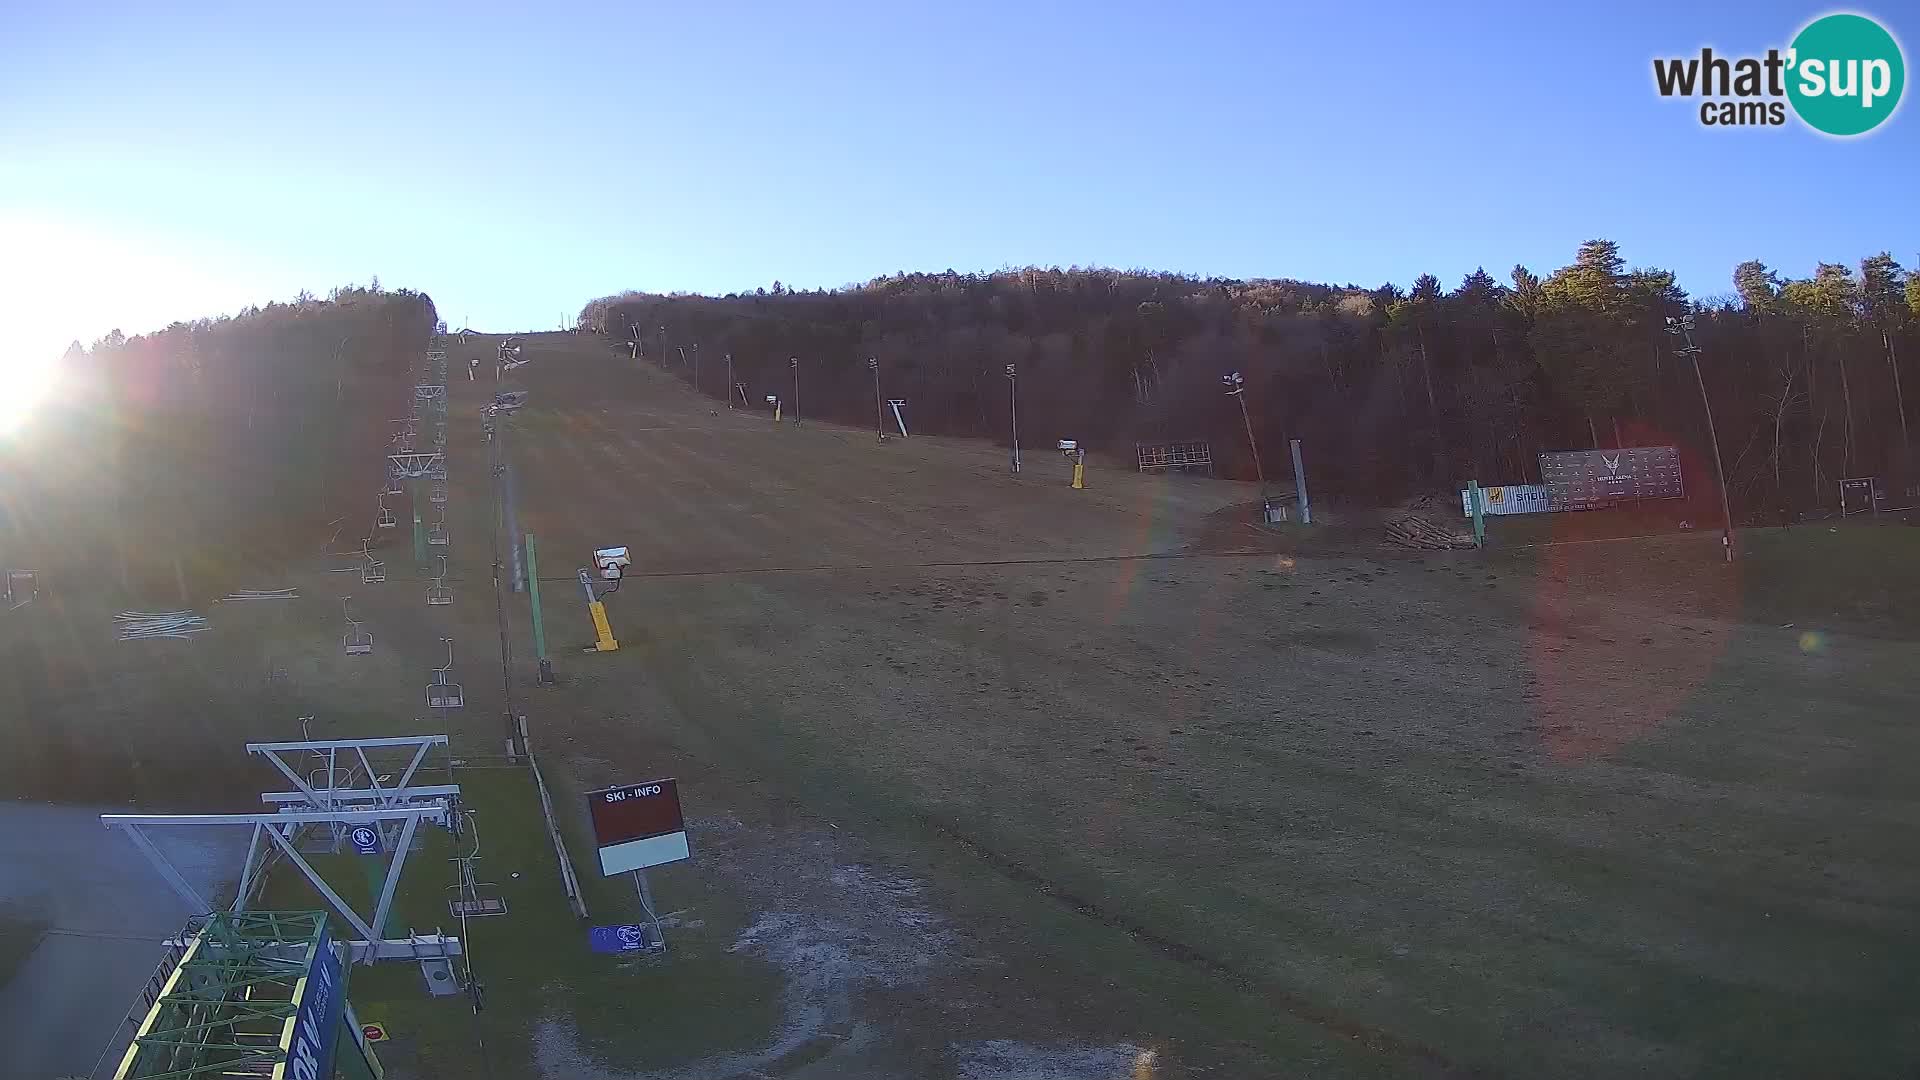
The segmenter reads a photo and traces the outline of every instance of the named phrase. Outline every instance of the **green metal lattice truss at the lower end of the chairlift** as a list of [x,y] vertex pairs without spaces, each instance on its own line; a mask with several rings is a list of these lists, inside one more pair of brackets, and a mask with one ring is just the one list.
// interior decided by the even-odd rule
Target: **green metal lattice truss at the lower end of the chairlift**
[[127,1047],[115,1080],[273,1076],[326,928],[324,911],[207,917]]

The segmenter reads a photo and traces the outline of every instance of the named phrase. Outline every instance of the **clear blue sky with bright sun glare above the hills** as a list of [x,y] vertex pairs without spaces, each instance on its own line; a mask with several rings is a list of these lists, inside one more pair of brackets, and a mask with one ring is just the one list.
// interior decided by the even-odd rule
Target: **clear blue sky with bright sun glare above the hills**
[[[1611,236],[1716,294],[1920,248],[1912,102],[1839,142],[1653,94],[1824,4],[1177,8],[12,0],[0,307],[58,348],[372,275],[538,329],[897,269],[1452,286]],[[1859,10],[1914,60],[1920,12]]]

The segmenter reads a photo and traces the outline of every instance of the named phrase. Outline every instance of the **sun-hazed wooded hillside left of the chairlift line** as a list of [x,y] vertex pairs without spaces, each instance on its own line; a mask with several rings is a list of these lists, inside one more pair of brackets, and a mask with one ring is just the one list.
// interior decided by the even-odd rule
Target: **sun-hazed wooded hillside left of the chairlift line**
[[13,536],[0,544],[129,584],[319,553],[342,517],[349,544],[434,321],[428,296],[374,281],[75,342],[58,396],[6,452]]

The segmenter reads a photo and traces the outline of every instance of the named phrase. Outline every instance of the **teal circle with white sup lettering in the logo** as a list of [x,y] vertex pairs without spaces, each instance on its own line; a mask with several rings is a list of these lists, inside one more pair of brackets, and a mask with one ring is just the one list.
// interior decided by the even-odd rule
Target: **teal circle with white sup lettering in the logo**
[[1866,135],[1901,104],[1901,42],[1866,15],[1822,15],[1803,29],[1788,63],[1788,100],[1814,131]]

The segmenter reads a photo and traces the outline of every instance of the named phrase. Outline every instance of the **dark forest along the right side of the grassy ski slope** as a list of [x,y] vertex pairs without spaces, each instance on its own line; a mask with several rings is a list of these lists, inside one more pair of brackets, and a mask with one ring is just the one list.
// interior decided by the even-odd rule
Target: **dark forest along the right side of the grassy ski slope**
[[[1400,498],[1538,480],[1553,448],[1678,442],[1690,488],[1711,486],[1711,450],[1684,338],[1693,342],[1738,503],[1772,513],[1828,505],[1841,477],[1907,467],[1903,394],[1920,390],[1920,284],[1891,256],[1822,263],[1782,281],[1734,269],[1726,298],[1690,300],[1668,271],[1626,269],[1609,240],[1571,265],[1505,281],[1475,271],[1453,288],[1194,279],[1110,269],[916,273],[862,286],[730,296],[626,292],[589,302],[580,325],[639,340],[701,388],[724,394],[726,356],[749,400],[793,394],[803,415],[874,423],[881,392],[906,398],[924,432],[1006,440],[1020,380],[1023,446],[1079,438],[1131,459],[1135,442],[1208,438],[1229,475],[1252,477],[1240,371],[1269,475],[1306,440],[1323,490]],[[695,348],[697,346],[697,348]]]

